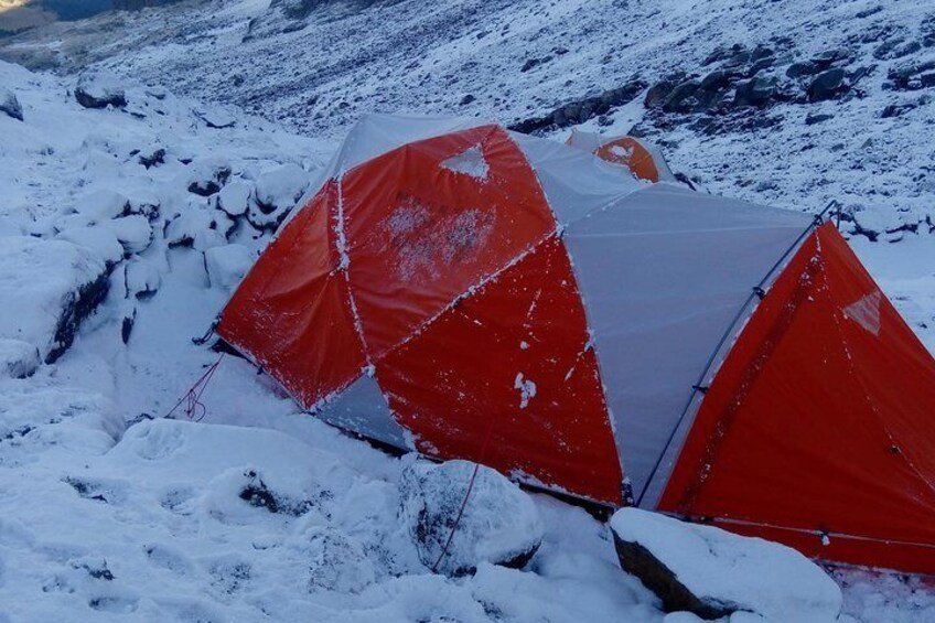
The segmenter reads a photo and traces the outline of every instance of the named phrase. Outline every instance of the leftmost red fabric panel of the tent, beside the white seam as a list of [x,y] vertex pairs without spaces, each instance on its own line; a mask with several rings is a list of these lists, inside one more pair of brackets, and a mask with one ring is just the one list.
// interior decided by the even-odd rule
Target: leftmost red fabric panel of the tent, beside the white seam
[[346,387],[366,365],[337,270],[330,223],[336,205],[331,182],[260,256],[217,329],[305,408]]

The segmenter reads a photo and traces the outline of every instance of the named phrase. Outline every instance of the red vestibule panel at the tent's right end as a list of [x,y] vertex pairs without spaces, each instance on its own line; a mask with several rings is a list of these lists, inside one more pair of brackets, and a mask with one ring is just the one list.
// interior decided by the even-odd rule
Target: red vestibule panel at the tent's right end
[[823,225],[714,378],[660,509],[827,559],[935,572],[933,406],[935,361]]

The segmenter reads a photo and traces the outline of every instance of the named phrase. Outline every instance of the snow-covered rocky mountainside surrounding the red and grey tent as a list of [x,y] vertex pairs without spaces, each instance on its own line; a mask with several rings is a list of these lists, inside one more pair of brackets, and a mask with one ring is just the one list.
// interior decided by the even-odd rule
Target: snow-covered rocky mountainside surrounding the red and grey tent
[[[0,623],[699,621],[545,495],[525,571],[431,573],[399,516],[412,455],[193,343],[367,111],[633,131],[703,190],[836,201],[935,352],[922,3],[187,0],[0,57],[57,74],[0,61]],[[924,580],[832,576],[845,623],[935,621]]]

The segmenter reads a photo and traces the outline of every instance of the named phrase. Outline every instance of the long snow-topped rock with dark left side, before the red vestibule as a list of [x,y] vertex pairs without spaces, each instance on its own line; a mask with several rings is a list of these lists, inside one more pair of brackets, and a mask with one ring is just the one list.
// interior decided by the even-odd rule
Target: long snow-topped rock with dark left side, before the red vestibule
[[610,526],[621,566],[666,612],[718,619],[745,611],[813,623],[840,613],[838,586],[792,548],[637,508],[617,511]]

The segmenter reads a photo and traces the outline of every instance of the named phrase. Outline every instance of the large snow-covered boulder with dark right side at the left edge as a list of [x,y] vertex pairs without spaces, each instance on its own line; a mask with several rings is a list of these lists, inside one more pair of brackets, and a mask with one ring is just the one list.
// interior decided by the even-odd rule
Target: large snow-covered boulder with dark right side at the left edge
[[107,294],[104,260],[65,240],[3,238],[0,245],[0,337],[20,340],[53,362]]

